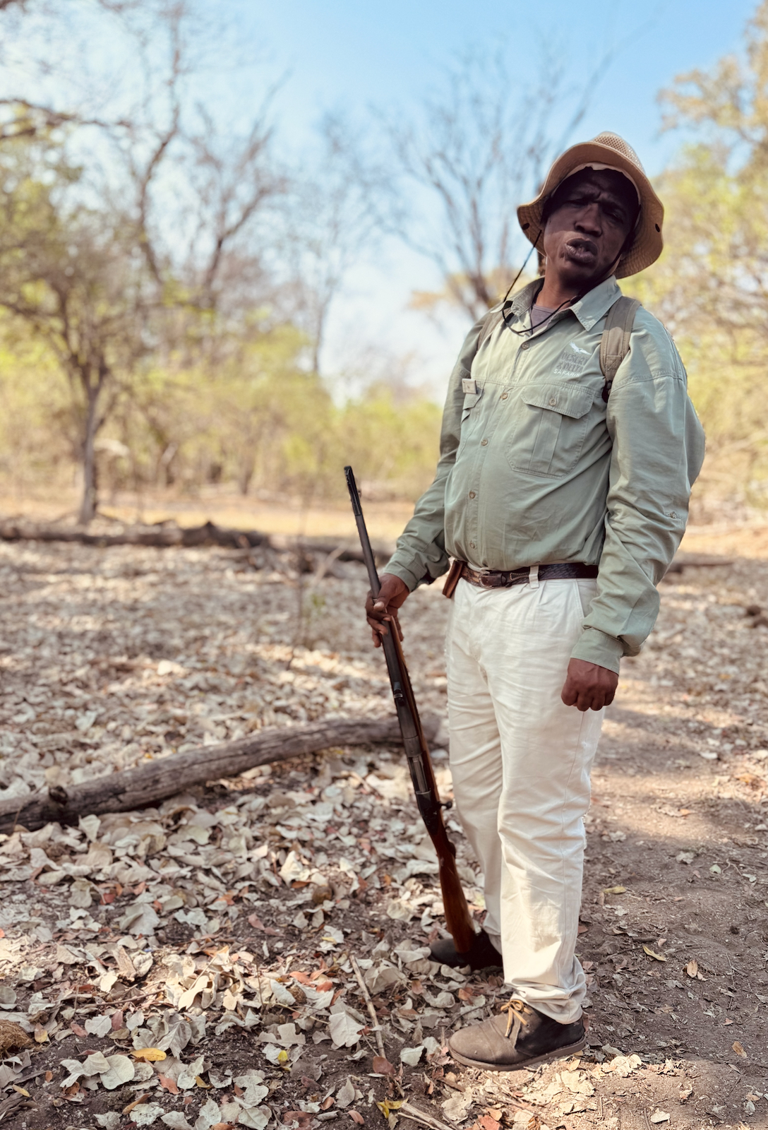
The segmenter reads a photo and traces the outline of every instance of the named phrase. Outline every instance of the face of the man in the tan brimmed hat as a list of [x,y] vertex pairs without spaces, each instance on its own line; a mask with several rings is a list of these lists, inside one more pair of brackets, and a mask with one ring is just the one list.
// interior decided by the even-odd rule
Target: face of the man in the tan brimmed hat
[[547,275],[579,290],[616,264],[637,216],[637,193],[612,169],[584,168],[556,190],[544,226]]

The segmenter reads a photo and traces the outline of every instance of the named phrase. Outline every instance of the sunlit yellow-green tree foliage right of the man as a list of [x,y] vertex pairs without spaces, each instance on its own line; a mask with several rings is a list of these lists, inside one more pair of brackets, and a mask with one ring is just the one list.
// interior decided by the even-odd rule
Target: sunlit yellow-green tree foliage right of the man
[[660,179],[665,250],[627,289],[665,322],[707,432],[699,497],[768,505],[768,2],[743,56],[681,76],[667,124],[699,130]]

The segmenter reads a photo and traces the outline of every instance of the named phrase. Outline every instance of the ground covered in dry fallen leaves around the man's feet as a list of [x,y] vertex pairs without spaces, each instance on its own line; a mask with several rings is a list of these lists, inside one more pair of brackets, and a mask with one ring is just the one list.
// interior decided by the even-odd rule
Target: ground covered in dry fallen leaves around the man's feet
[[[262,725],[391,711],[354,563],[26,545],[0,547],[0,796],[19,805]],[[768,566],[662,589],[594,773],[584,1055],[451,1061],[500,977],[429,959],[437,868],[398,749],[335,749],[0,837],[0,1121],[767,1124]],[[446,611],[433,586],[404,617],[421,707],[443,715]],[[450,797],[444,748],[435,764]]]

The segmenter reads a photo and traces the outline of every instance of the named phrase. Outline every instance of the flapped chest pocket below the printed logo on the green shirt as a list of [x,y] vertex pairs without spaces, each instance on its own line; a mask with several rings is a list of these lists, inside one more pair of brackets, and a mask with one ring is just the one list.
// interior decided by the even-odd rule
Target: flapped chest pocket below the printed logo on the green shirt
[[524,385],[513,405],[507,460],[513,471],[558,479],[573,471],[584,446],[592,389]]

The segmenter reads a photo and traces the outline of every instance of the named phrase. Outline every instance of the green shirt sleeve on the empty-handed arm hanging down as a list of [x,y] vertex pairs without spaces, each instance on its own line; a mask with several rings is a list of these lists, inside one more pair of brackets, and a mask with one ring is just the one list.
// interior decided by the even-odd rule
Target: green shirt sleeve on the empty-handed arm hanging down
[[656,585],[682,539],[704,462],[704,429],[672,339],[647,311],[635,325],[608,401],[613,451],[597,592],[571,652],[617,672],[655,624]]

